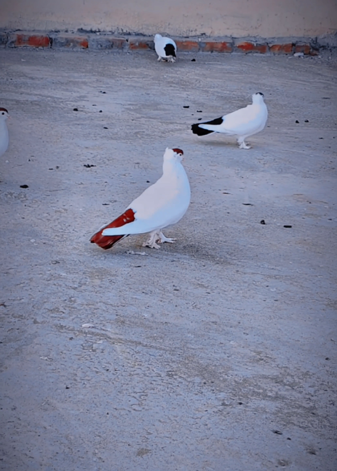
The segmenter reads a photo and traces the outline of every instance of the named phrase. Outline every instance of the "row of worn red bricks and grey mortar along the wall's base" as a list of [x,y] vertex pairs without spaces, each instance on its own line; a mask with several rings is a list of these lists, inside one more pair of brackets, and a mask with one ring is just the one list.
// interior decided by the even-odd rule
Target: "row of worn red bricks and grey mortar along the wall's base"
[[[321,45],[319,38],[211,38],[211,37],[173,37],[178,51],[218,52],[218,53],[259,53],[318,55]],[[154,50],[151,36],[116,36],[108,33],[69,33],[15,31],[0,32],[0,45],[6,48],[31,47],[51,49],[89,49],[89,50]]]

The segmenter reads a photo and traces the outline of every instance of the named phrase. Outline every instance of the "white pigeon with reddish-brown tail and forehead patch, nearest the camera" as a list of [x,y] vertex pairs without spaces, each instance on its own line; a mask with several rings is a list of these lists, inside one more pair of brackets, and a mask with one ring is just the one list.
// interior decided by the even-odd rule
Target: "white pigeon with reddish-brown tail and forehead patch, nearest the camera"
[[165,237],[161,230],[178,222],[190,204],[190,184],[181,164],[183,154],[181,149],[167,148],[162,177],[146,188],[123,214],[96,232],[90,242],[102,249],[110,249],[130,234],[150,232],[144,247],[159,249],[158,244],[173,243],[176,239]]

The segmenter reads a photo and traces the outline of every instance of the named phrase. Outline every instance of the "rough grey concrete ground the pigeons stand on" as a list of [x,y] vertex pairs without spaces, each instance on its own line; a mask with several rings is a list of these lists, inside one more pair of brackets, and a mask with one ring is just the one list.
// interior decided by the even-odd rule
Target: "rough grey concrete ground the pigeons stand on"
[[[0,62],[0,469],[336,470],[334,58]],[[252,149],[192,134],[256,91]],[[89,244],[166,146],[192,189],[177,243]]]

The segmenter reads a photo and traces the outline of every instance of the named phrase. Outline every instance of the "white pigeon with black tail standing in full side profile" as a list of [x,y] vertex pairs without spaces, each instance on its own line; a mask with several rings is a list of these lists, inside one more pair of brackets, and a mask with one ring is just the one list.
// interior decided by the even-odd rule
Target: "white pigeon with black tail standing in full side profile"
[[225,114],[225,116],[213,121],[192,124],[192,131],[198,136],[204,136],[211,132],[222,132],[231,136],[238,136],[239,148],[250,149],[250,146],[245,143],[245,138],[262,131],[267,121],[268,111],[263,97],[263,93],[254,93],[252,95],[252,105]]

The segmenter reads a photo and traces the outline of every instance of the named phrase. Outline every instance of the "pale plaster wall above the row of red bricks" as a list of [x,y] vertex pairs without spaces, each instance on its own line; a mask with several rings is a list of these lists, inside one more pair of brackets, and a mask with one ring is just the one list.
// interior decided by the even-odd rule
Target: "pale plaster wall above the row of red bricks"
[[0,29],[316,36],[337,30],[336,0],[0,0]]

